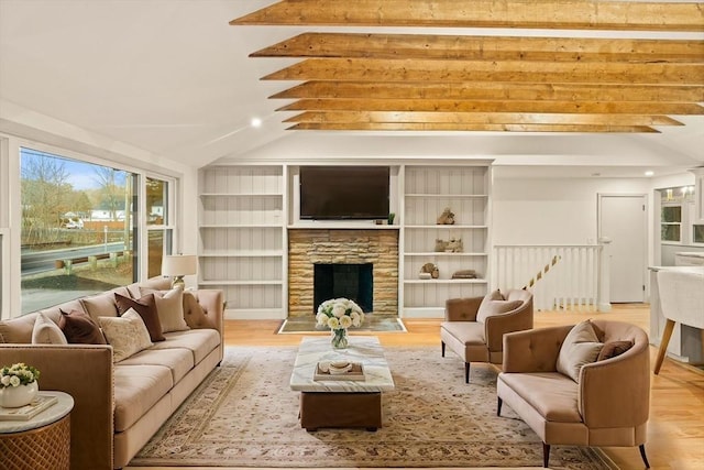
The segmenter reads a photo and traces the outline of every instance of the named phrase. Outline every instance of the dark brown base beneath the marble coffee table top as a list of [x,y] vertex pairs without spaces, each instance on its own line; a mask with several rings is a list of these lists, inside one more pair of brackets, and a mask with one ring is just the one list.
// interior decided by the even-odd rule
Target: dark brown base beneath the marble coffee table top
[[300,393],[300,427],[382,427],[381,393]]

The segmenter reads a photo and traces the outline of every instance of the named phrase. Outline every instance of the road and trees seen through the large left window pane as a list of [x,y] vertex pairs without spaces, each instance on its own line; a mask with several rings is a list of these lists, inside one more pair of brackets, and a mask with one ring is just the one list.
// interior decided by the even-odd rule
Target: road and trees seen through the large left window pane
[[22,313],[136,280],[138,175],[21,149]]

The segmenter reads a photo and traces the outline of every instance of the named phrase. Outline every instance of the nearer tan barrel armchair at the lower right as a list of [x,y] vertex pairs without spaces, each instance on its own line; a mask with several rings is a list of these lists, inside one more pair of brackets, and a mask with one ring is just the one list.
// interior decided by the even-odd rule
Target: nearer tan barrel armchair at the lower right
[[[498,374],[497,415],[506,403],[543,442],[543,466],[551,445],[639,446],[644,463],[650,412],[648,336],[635,325],[593,320],[600,342],[632,342],[619,356],[586,363],[579,381],[558,372],[558,357],[572,326],[504,336],[503,372]],[[601,359],[601,360],[600,360]]]

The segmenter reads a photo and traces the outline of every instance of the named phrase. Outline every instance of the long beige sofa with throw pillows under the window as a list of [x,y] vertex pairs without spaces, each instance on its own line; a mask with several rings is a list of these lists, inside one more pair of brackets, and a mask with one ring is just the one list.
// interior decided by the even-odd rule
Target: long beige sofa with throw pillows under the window
[[[153,280],[42,311],[54,323],[61,317],[59,308],[79,309],[94,319],[117,316],[117,308],[111,307],[116,292],[139,298],[140,287],[168,286],[168,280]],[[127,466],[222,360],[222,292],[185,292],[183,300],[190,329],[166,332],[165,341],[114,364],[110,346],[31,345],[37,313],[0,323],[0,362],[32,364],[41,371],[41,390],[58,390],[74,397],[73,470]]]

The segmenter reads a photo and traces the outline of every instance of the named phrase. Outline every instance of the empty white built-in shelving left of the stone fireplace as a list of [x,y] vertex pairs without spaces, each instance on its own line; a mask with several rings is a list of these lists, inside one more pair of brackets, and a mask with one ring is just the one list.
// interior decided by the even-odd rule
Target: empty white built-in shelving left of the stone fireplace
[[200,172],[198,284],[224,292],[228,318],[285,318],[284,182],[282,165]]

